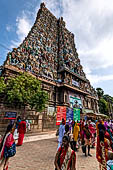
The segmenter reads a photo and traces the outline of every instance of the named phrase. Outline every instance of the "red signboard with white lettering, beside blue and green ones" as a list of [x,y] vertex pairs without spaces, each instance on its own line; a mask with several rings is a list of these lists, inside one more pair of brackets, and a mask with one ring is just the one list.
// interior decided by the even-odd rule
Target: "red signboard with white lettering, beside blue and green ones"
[[66,107],[57,106],[56,125],[60,125],[62,118],[66,121]]

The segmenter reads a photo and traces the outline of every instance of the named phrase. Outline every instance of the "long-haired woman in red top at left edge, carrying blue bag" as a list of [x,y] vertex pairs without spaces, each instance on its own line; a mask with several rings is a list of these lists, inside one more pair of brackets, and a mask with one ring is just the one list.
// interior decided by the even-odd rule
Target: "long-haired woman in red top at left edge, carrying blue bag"
[[[15,145],[15,141],[13,138],[13,125],[9,124],[0,146],[0,170],[8,170],[9,157],[11,157],[12,155],[9,155],[7,150],[8,148],[11,148],[13,144]],[[16,153],[16,148],[14,152]],[[13,154],[15,155],[15,153]],[[10,154],[12,153],[10,152]]]

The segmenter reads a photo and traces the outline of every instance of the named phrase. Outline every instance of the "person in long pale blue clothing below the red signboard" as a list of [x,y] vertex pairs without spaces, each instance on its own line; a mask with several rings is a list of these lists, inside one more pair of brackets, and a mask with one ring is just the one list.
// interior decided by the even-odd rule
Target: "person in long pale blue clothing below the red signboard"
[[64,133],[65,133],[65,120],[62,119],[62,122],[61,122],[60,127],[59,127],[59,136],[58,136],[58,147],[57,147],[57,150],[62,145],[62,138],[64,136]]

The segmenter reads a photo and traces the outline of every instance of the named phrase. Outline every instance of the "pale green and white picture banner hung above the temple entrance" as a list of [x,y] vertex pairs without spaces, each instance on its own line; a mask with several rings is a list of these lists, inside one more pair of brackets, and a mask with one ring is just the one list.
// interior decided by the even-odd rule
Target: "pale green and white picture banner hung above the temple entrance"
[[71,108],[74,108],[74,107],[82,108],[82,102],[80,98],[69,96],[69,102],[70,102]]

